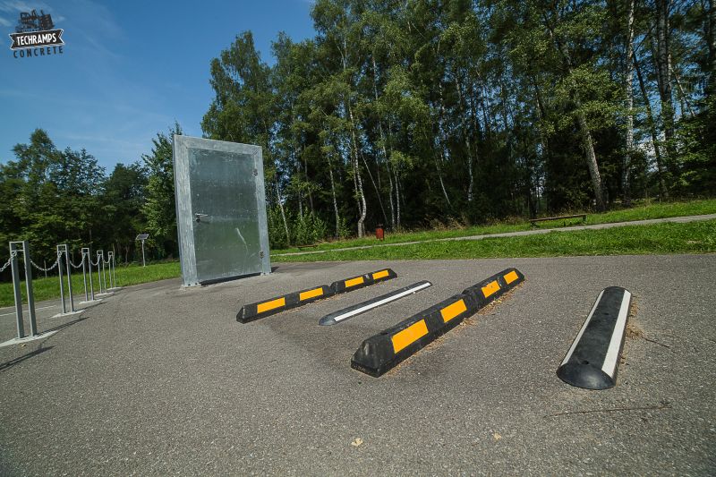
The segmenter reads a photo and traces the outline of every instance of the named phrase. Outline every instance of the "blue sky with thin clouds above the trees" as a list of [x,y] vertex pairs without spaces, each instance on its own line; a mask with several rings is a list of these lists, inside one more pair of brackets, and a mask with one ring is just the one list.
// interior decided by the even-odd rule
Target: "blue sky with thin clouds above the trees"
[[[265,61],[281,30],[314,35],[311,1],[141,2],[0,0],[0,162],[37,127],[55,146],[85,148],[111,172],[149,152],[178,121],[200,136],[213,92],[209,62],[251,30]],[[14,58],[20,12],[51,13],[64,54]]]

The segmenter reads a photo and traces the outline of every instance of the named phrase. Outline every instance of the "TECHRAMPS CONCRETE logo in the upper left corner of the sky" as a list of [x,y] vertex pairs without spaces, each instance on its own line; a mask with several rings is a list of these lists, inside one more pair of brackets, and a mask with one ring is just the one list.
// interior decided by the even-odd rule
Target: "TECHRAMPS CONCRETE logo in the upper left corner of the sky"
[[10,33],[15,58],[62,55],[64,53],[63,29],[55,29],[52,16],[42,10],[21,12],[15,33]]

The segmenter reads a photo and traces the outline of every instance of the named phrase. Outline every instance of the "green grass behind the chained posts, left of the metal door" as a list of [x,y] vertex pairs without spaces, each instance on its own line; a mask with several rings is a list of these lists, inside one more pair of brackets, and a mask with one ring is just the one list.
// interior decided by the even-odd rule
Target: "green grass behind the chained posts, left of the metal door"
[[[79,273],[77,273],[79,271]],[[33,270],[33,273],[37,270]],[[37,272],[39,274],[39,272]],[[147,265],[147,267],[141,267],[138,265],[130,265],[127,267],[117,267],[117,285],[137,285],[147,282],[156,282],[157,280],[164,280],[166,278],[175,278],[181,275],[181,269],[178,261],[163,262]],[[37,277],[36,275],[35,277]],[[97,272],[93,274],[95,294],[99,293],[98,277]],[[64,279],[64,293],[67,294],[67,277]],[[107,280],[109,275],[107,274]],[[87,286],[90,286],[90,279],[88,278]],[[107,286],[109,282],[107,281]],[[25,292],[25,285],[22,284],[22,300],[26,301],[27,296]],[[32,280],[32,293],[35,296],[35,301],[40,302],[42,300],[49,300],[52,298],[58,298],[60,296],[60,282],[57,276],[55,277],[44,277],[35,278]],[[82,281],[82,270],[72,269],[72,293],[77,296],[82,295],[84,300],[84,284]],[[12,283],[0,283],[0,306],[11,306],[13,305],[13,284]]]

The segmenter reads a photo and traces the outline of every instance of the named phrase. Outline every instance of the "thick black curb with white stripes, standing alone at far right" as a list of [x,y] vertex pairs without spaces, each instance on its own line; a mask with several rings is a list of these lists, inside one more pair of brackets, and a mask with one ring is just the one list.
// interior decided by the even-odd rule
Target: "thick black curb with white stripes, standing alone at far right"
[[632,294],[620,286],[601,291],[559,365],[559,379],[586,389],[607,389],[617,384],[631,301]]

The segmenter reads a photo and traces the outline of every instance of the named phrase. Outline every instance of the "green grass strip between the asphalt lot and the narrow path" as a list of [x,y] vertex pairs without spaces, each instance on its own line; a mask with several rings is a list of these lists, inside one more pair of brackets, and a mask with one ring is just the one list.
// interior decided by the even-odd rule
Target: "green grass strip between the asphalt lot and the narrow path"
[[622,226],[475,241],[428,242],[362,250],[327,251],[276,257],[273,261],[482,259],[714,251],[716,220],[707,220],[686,224]]

